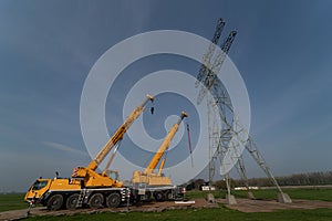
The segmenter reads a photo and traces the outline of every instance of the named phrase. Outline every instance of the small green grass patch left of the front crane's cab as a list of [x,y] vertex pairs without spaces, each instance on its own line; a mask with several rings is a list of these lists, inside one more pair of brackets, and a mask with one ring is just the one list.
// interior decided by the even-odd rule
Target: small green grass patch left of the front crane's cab
[[0,212],[28,208],[23,193],[0,194]]

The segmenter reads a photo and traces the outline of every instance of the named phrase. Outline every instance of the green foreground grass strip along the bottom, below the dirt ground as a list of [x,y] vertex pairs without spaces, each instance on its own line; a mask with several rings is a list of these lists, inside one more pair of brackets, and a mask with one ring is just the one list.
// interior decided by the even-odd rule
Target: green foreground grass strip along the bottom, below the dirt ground
[[236,210],[229,210],[225,207],[219,209],[187,209],[187,210],[166,210],[164,212],[129,212],[129,213],[95,213],[77,214],[72,217],[35,217],[29,218],[28,221],[64,221],[64,220],[144,220],[144,221],[172,221],[172,220],[227,220],[227,221],[330,221],[332,218],[331,209],[317,210],[283,210],[276,212],[262,213],[243,213]]

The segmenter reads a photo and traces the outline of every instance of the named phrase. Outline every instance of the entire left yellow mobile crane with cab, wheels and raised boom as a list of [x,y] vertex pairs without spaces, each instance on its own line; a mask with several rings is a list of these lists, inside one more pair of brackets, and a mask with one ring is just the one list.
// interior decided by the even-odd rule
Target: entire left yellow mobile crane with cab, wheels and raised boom
[[154,101],[152,95],[146,96],[144,103],[131,113],[87,167],[74,168],[72,178],[69,179],[58,176],[54,179],[38,179],[25,193],[24,200],[41,203],[50,210],[64,207],[72,210],[82,206],[94,209],[104,206],[116,208],[126,201],[127,188],[117,180],[117,176],[115,178],[108,176],[107,167],[101,173],[96,172],[96,169],[111,149],[123,139],[133,122],[143,113],[147,102]]

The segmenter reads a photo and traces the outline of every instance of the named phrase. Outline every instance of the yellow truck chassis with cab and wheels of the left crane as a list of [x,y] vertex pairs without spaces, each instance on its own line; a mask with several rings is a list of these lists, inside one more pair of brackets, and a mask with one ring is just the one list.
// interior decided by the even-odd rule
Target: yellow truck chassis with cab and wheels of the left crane
[[[48,207],[49,210],[74,210],[81,207],[117,208],[128,200],[128,188],[82,188],[80,182],[63,178],[38,179],[28,191],[33,197],[25,196],[25,199]],[[61,189],[61,186],[65,187]]]

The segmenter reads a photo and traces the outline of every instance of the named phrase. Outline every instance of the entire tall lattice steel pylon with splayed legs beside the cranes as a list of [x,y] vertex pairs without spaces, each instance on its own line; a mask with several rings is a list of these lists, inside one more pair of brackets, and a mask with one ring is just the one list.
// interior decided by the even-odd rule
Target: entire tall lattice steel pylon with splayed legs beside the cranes
[[[228,38],[222,42],[220,46],[221,50],[216,50],[224,27],[225,21],[219,19],[211,44],[203,57],[203,64],[195,83],[196,87],[198,87],[199,83],[203,84],[197,97],[197,104],[200,104],[204,97],[207,99],[209,134],[209,186],[212,182],[216,170],[215,162],[217,159],[219,159],[220,170],[225,171],[222,173],[226,178],[228,193],[230,193],[228,179],[229,172],[226,171],[227,164],[229,162],[225,160],[227,158],[226,156],[228,156],[229,159],[237,161],[237,168],[240,171],[241,178],[245,179],[245,182],[248,186],[242,154],[239,152],[240,146],[242,146],[248,150],[250,156],[256,160],[268,178],[270,178],[283,198],[284,193],[274,179],[270,168],[267,166],[266,160],[250,137],[248,130],[240,123],[240,119],[234,110],[227,90],[217,76],[237,34],[236,31],[231,31]],[[214,61],[212,57],[215,59]],[[288,196],[287,198],[288,199],[279,200],[291,202]]]

